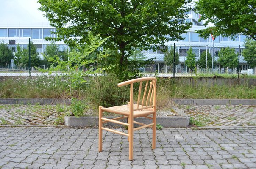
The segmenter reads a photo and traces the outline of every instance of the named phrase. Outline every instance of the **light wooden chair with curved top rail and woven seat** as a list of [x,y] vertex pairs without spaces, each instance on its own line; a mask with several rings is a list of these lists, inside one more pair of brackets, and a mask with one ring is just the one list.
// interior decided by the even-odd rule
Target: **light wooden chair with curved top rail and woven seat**
[[[146,81],[146,82],[144,82]],[[134,83],[139,82],[139,93],[138,100],[134,102]],[[142,95],[142,82],[145,84],[145,89]],[[152,149],[156,148],[156,78],[155,77],[142,77],[138,79],[128,80],[118,84],[118,87],[130,85],[130,102],[127,105],[114,106],[105,108],[99,106],[99,152],[102,151],[102,130],[111,131],[117,134],[122,134],[128,136],[129,141],[129,160],[133,160],[133,133],[136,130],[142,128],[152,128],[153,129],[153,138],[152,138]],[[150,86],[149,86],[150,85]],[[149,87],[148,87],[149,86]],[[153,103],[152,103],[153,102]],[[113,119],[103,118],[103,111],[120,114],[122,117],[117,117]],[[152,114],[153,116],[149,116]],[[146,117],[152,120],[150,124],[144,124],[134,121],[134,118],[137,117]],[[118,120],[128,118],[128,123],[124,123]],[[103,123],[117,123],[120,125],[128,126],[128,133],[116,131],[113,129],[103,127]],[[134,123],[141,125],[140,127],[134,128]]]

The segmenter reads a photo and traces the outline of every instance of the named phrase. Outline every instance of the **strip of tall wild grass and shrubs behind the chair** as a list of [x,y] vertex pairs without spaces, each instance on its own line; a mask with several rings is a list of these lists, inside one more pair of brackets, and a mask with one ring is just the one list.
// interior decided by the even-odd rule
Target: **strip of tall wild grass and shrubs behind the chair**
[[[70,95],[70,85],[67,77],[61,76],[38,76],[37,78],[16,78],[6,79],[0,82],[0,98],[89,98],[94,101],[96,107],[99,101],[108,97],[98,96],[97,91],[111,93],[114,98],[111,104],[118,104],[120,101],[127,100],[127,89],[117,87],[119,82],[116,78],[98,78],[92,83],[84,83],[72,90]],[[106,85],[111,84],[111,85]],[[105,87],[105,88],[104,88]],[[135,88],[136,89],[136,88]],[[134,91],[135,91],[134,89]],[[126,92],[126,96],[120,97]],[[90,93],[92,93],[90,95]],[[197,78],[158,78],[157,100],[159,107],[169,104],[172,98],[192,98],[192,99],[255,99],[256,87],[248,85],[213,85],[207,82],[198,82]],[[110,98],[109,98],[110,99]],[[104,102],[104,100],[102,100]],[[103,103],[104,104],[104,103]],[[106,104],[106,103],[105,103]],[[60,110],[61,111],[61,110]]]

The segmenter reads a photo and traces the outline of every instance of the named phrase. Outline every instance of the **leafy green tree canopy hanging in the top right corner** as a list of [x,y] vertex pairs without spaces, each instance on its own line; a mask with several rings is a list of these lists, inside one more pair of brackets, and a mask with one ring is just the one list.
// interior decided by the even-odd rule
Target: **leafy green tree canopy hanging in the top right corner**
[[255,8],[255,0],[198,0],[195,9],[200,20],[214,26],[197,32],[203,37],[244,34],[256,40]]

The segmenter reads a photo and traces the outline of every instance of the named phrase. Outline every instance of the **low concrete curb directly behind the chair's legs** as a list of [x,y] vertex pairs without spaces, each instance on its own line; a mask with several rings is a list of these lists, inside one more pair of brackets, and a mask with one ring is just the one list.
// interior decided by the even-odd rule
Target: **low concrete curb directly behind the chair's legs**
[[[114,118],[114,116],[109,116],[107,118]],[[65,125],[68,127],[92,127],[98,125],[98,117],[85,116],[85,117],[75,117],[75,116],[65,116]],[[125,120],[120,120],[126,122]],[[146,118],[136,118],[136,121],[140,123],[152,123],[152,120]],[[189,126],[189,116],[163,116],[157,117],[156,123],[162,125],[164,128],[186,128]],[[122,127],[122,125],[108,123],[106,126],[109,127]],[[134,127],[139,125],[134,124]]]

